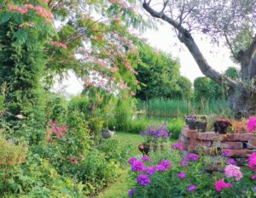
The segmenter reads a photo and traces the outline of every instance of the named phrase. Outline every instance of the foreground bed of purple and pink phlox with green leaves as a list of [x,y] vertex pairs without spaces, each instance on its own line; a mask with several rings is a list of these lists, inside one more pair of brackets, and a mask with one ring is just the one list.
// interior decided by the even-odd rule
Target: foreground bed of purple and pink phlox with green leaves
[[[228,162],[223,165],[224,173],[213,175],[206,171],[212,163],[207,160],[208,156],[189,154],[183,157],[178,149],[173,148],[176,147],[172,146],[171,151],[152,153],[150,161],[129,160],[131,175],[137,181],[129,190],[130,197],[255,197],[256,176],[253,170],[256,153],[248,159],[248,165],[253,170]],[[133,171],[135,164],[143,168]]]

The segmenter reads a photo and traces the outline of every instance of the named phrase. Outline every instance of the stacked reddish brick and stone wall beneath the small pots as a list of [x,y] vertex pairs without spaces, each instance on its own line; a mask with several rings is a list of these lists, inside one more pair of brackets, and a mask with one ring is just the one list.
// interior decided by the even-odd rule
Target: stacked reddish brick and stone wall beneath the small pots
[[198,133],[197,130],[190,130],[187,126],[182,128],[178,139],[178,142],[184,146],[183,152],[198,153],[200,151],[203,155],[210,155],[211,161],[214,161],[214,166],[208,168],[208,171],[211,172],[223,171],[223,168],[220,167],[219,155],[225,150],[231,150],[231,154],[229,157],[225,157],[224,161],[227,162],[233,158],[236,160],[237,166],[244,166],[247,163],[247,156],[253,153],[253,148],[256,146],[255,141],[256,139],[251,133]]

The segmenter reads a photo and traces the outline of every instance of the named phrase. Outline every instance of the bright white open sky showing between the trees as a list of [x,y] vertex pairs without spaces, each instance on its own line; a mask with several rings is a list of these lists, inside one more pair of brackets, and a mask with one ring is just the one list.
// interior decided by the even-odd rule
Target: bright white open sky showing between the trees
[[[195,42],[201,49],[202,54],[205,55],[207,62],[213,69],[219,72],[224,72],[230,66],[236,66],[230,59],[230,51],[224,46],[217,46],[210,44],[210,40],[202,35],[193,35]],[[183,76],[189,78],[191,82],[194,82],[196,77],[204,76],[198,65],[195,63],[194,58],[189,53],[189,50],[179,42],[175,33],[172,31],[171,25],[162,24],[159,25],[158,31],[148,30],[143,33],[142,37],[146,38],[148,43],[166,53],[172,54],[174,58],[180,61],[180,71]],[[69,76],[61,83],[56,83],[53,90],[63,90],[71,95],[81,93],[83,89],[83,83],[79,81],[72,72],[69,72]]]

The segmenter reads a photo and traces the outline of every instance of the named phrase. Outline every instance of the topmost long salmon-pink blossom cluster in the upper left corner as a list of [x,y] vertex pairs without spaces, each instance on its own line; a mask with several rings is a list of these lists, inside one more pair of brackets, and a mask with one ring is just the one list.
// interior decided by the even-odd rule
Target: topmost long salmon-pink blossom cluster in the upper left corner
[[[45,2],[47,2],[47,1],[45,1]],[[8,9],[10,12],[17,12],[17,13],[21,13],[21,14],[27,14],[29,10],[34,10],[36,12],[36,14],[38,14],[39,16],[42,16],[48,23],[50,23],[53,19],[53,15],[51,14],[51,12],[42,6],[34,6],[32,4],[25,4],[23,7],[19,7],[19,6],[10,4]]]

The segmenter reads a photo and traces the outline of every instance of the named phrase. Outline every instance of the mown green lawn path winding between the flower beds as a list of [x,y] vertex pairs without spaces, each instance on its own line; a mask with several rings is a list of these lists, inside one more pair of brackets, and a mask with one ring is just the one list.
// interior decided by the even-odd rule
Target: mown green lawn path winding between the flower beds
[[[143,137],[140,134],[117,132],[115,139],[119,139],[124,146],[131,146],[131,156],[142,156],[142,153],[137,149],[137,145],[143,142]],[[171,140],[175,142],[176,140]],[[129,177],[130,167],[124,168],[120,177],[113,183],[103,190],[96,198],[123,198],[128,197],[127,192],[134,184],[134,180]]]

